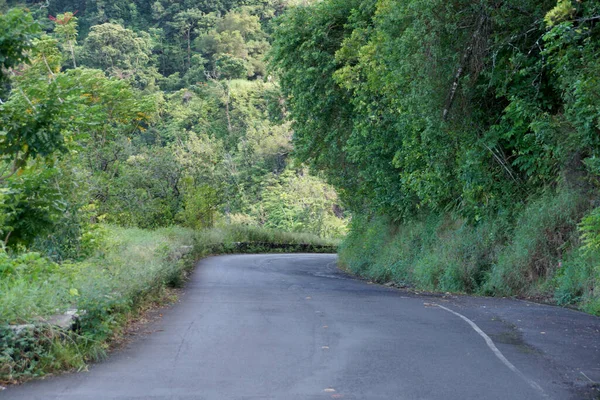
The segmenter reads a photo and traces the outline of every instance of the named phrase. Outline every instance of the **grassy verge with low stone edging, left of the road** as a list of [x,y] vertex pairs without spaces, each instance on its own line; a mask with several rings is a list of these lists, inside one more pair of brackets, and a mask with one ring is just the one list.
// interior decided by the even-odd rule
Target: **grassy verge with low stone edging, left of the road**
[[[282,251],[268,244],[337,244],[311,235],[241,226],[201,232],[107,226],[104,236],[96,254],[79,262],[57,264],[38,253],[2,254],[0,384],[80,370],[102,359],[127,322],[149,304],[164,302],[168,288],[183,285],[201,257]],[[256,245],[240,249],[237,242]],[[68,309],[79,314],[73,331],[44,322]],[[16,325],[28,327],[16,330]]]

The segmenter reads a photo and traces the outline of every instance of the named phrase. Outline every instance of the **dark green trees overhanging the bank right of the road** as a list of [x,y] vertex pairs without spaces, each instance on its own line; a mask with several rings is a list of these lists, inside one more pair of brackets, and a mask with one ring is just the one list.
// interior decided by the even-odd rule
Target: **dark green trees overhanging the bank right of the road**
[[598,147],[597,28],[585,18],[597,7],[546,31],[551,5],[292,9],[272,61],[296,152],[352,193],[353,208],[393,219],[428,209],[478,220],[572,177],[573,160]]

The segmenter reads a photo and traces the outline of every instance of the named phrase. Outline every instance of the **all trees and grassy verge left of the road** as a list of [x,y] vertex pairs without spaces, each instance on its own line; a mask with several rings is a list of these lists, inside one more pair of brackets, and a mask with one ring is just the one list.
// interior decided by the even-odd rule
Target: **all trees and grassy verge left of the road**
[[265,67],[286,4],[0,0],[0,383],[102,358],[200,257],[335,251]]

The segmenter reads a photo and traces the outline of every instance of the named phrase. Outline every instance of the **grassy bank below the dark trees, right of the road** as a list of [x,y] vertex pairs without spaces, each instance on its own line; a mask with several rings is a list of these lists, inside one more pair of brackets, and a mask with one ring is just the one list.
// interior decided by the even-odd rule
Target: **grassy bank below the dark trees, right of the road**
[[533,297],[600,315],[600,247],[581,238],[586,226],[596,231],[596,214],[585,196],[564,189],[474,224],[448,214],[403,224],[355,217],[340,263],[376,282]]

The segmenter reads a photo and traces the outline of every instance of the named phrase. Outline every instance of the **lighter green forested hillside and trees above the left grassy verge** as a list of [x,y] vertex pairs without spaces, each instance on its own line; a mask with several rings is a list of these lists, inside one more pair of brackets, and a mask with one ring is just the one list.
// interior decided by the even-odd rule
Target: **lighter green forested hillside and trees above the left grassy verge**
[[32,2],[3,17],[29,61],[4,63],[4,245],[72,258],[99,218],[342,234],[333,189],[288,159],[266,73],[284,5],[139,3]]

